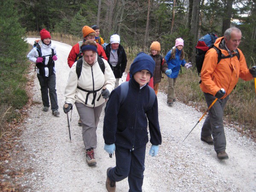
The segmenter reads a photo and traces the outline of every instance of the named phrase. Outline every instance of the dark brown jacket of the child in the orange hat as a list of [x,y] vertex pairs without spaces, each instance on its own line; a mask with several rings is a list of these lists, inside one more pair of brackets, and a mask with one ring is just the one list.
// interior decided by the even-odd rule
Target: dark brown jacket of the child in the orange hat
[[[160,83],[162,80],[162,73],[165,73],[166,70],[168,70],[168,65],[166,64],[166,61],[162,55],[152,55],[151,53],[149,53],[148,55],[150,55],[156,63],[156,67],[153,73],[153,82],[154,84]],[[161,57],[163,58],[163,65],[161,63]]]

